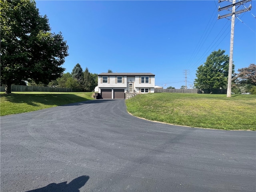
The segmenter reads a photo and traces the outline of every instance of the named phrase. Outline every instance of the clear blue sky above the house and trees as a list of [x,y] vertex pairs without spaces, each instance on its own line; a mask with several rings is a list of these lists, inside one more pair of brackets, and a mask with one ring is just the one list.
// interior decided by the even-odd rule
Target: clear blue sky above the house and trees
[[[79,63],[91,73],[150,72],[155,84],[180,88],[194,84],[198,66],[212,51],[230,52],[231,21],[217,20],[218,1],[36,1],[52,32],[69,46],[63,65]],[[249,3],[250,4],[250,3]],[[249,6],[246,4],[246,7]],[[236,18],[235,70],[256,64],[256,1]],[[220,15],[228,12],[221,11]],[[166,85],[165,85],[166,84]]]

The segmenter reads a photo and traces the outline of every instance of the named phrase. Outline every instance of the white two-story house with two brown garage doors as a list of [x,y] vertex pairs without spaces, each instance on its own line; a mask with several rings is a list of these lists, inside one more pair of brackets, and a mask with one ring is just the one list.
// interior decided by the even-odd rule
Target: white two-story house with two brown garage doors
[[124,99],[125,94],[154,93],[152,73],[98,74],[98,93],[103,99]]

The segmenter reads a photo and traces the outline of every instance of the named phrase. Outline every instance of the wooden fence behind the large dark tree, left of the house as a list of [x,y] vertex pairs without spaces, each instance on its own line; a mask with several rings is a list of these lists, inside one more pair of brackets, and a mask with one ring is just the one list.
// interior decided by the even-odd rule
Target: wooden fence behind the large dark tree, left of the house
[[[0,86],[0,91],[5,91],[5,86]],[[77,89],[72,88],[59,88],[59,87],[40,87],[40,86],[24,86],[24,85],[12,85],[11,91],[14,92],[79,92]]]

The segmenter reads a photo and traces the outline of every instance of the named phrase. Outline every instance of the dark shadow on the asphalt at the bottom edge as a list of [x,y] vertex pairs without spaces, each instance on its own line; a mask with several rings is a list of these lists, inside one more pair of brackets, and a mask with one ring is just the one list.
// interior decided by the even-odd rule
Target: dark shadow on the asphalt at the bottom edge
[[67,182],[62,183],[51,183],[48,184],[45,187],[30,190],[27,192],[80,192],[80,188],[86,184],[86,182],[89,180],[89,176],[80,176],[78,178],[75,178],[70,183],[67,184]]

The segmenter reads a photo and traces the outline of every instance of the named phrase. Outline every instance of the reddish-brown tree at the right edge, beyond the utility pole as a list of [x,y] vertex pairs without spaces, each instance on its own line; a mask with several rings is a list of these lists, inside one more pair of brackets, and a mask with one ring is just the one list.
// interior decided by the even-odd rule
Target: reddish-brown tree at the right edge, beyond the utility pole
[[238,84],[250,84],[256,86],[256,65],[250,64],[249,67],[238,69],[235,82]]

